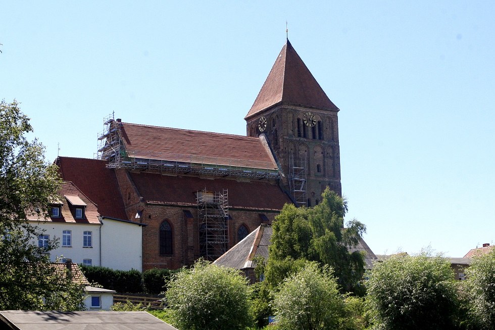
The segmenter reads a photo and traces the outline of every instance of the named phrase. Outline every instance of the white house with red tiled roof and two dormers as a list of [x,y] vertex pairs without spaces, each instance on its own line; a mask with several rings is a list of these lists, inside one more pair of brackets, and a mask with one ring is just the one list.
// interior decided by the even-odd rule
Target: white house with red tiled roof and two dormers
[[52,261],[71,259],[87,266],[142,271],[142,224],[101,217],[96,204],[72,182],[63,182],[60,196],[50,205],[50,217],[29,219],[31,225],[44,229],[38,246],[59,241],[58,248],[50,251]]

